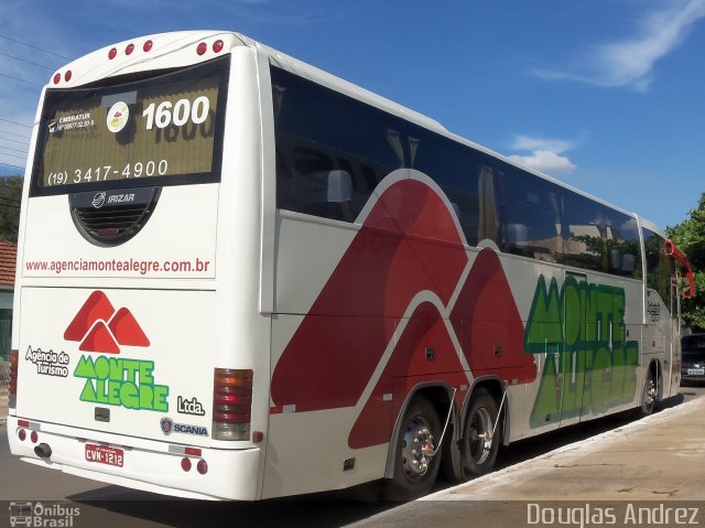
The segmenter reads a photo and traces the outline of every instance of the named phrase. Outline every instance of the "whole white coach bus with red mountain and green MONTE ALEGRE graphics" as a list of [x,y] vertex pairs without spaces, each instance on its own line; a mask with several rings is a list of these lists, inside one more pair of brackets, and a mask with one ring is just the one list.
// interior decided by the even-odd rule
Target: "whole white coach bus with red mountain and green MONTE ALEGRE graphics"
[[676,394],[651,223],[252,40],[98,50],[42,93],[8,435],[193,498],[381,481]]

